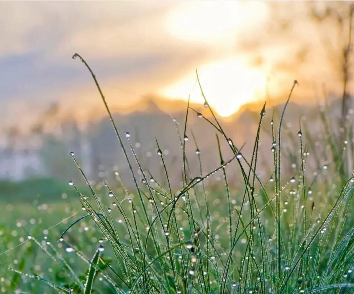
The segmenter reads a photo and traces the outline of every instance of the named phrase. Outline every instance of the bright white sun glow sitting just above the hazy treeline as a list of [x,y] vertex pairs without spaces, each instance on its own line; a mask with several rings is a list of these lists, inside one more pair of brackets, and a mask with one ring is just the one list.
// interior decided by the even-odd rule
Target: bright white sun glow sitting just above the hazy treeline
[[[266,75],[260,69],[242,64],[239,58],[202,65],[198,68],[198,75],[210,107],[220,116],[231,116],[242,105],[264,98]],[[195,71],[167,85],[159,94],[170,99],[185,100],[190,95],[191,102],[204,103]]]

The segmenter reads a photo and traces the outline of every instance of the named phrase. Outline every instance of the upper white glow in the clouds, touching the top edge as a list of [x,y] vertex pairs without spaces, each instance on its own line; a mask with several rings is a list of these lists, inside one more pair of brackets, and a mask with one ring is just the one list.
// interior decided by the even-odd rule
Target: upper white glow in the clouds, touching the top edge
[[268,17],[261,1],[187,1],[166,17],[166,30],[181,40],[232,44]]

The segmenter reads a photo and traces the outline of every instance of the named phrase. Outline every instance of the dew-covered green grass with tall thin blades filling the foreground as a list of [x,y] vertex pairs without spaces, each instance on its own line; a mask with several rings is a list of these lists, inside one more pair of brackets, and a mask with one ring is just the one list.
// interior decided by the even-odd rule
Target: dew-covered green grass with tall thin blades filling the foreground
[[[331,158],[325,166],[320,164],[321,155],[311,148],[314,142],[308,126],[304,128],[300,122],[297,141],[292,141],[295,151],[286,155],[297,158],[299,164],[293,169],[293,175],[283,172],[286,163],[283,162],[282,122],[297,86],[294,81],[278,128],[274,114],[270,122],[273,145],[269,154],[273,157],[274,170],[264,181],[257,171],[262,124],[269,123],[265,122],[265,104],[259,113],[252,156],[246,159],[242,147],[233,144],[209,107],[197,73],[204,106],[209,108],[213,121],[200,113],[197,115],[215,128],[218,146],[215,152],[221,163],[212,171],[202,169],[201,157],[207,154],[200,152],[192,133],[199,166],[189,165],[185,146],[192,143],[187,136],[192,108],[188,102],[182,136],[176,124],[183,161],[183,188],[176,191],[170,185],[169,167],[159,142],[156,140],[155,162],[161,163],[164,170],[165,178],[161,181],[141,165],[130,134],[119,134],[89,65],[79,54],[73,58],[80,59],[92,75],[131,171],[135,190],[126,189],[119,174],[117,180],[122,189],[109,183],[104,183],[99,190],[91,186],[71,152],[90,195],[87,188],[70,182],[76,196],[70,200],[70,208],[65,213],[71,219],[64,218],[55,226],[67,223],[67,228],[55,240],[50,240],[48,230],[43,234],[34,230],[27,234],[27,241],[16,246],[11,241],[15,237],[12,232],[2,229],[2,239],[11,243],[2,246],[7,249],[2,248],[0,253],[4,273],[1,281],[5,285],[2,292],[21,289],[33,293],[35,289],[36,293],[85,294],[353,293],[354,179],[352,174],[344,172],[348,169],[344,165],[350,145],[344,139],[352,140],[350,118],[344,132],[346,137],[336,137],[322,112],[325,143],[330,146],[327,159]],[[127,141],[128,148],[123,140]],[[232,151],[232,158],[224,159],[220,147],[223,142]],[[310,160],[315,163],[314,176],[309,176],[313,175],[313,167],[308,166]],[[134,172],[136,166],[140,180]],[[235,186],[228,177],[229,169],[238,171],[241,185]],[[215,173],[223,176],[223,184],[206,186],[205,179]],[[79,213],[81,208],[83,213]],[[18,212],[17,206],[15,211]],[[60,213],[58,210],[57,215]],[[5,259],[11,259],[15,253],[16,263]],[[34,255],[37,258],[32,260]]]

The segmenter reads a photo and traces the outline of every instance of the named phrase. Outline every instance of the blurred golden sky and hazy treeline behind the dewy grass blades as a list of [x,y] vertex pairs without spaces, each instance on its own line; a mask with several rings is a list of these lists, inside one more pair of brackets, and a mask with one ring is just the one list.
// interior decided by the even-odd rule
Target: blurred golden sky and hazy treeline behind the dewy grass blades
[[[351,2],[0,6],[0,197],[7,201],[22,193],[18,183],[25,183],[28,193],[28,181],[45,179],[50,186],[79,181],[69,150],[93,182],[114,180],[119,171],[130,184],[102,100],[86,67],[72,59],[75,52],[95,72],[122,137],[131,134],[144,169],[163,178],[156,137],[175,186],[181,184],[182,158],[176,126],[182,133],[188,96],[192,107],[210,118],[196,69],[210,107],[235,145],[246,144],[245,155],[252,151],[259,111],[267,101],[260,176],[270,171],[272,111],[279,118],[293,80],[299,87],[286,114],[289,134],[297,133],[302,117],[320,146],[319,107],[329,107],[333,122],[353,114]],[[339,136],[340,125],[334,124]],[[216,131],[191,110],[186,148],[193,167],[192,131],[204,169],[214,169],[219,165]],[[222,148],[230,157],[224,143]],[[58,195],[50,190],[48,197],[60,197],[59,190]]]

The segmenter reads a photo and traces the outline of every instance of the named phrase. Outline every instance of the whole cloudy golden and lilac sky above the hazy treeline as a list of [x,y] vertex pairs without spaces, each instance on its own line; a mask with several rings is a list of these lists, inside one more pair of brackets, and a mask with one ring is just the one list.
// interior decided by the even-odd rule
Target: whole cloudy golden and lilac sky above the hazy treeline
[[[210,106],[224,117],[250,102],[284,101],[295,79],[298,103],[316,101],[324,89],[340,95],[348,5],[2,1],[0,122],[25,128],[53,102],[82,121],[92,110],[99,116],[102,102],[74,53],[121,112],[151,97],[202,104],[196,69]],[[340,24],[337,16],[344,16]]]

